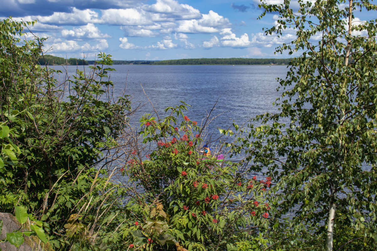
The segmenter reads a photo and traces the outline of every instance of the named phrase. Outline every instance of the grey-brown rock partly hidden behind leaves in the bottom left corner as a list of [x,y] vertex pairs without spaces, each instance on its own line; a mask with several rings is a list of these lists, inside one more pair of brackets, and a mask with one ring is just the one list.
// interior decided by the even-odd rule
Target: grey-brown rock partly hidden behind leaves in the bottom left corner
[[[21,224],[10,213],[0,213],[0,221],[3,221],[3,227],[0,231],[0,240],[6,238],[6,233],[11,233],[20,229]],[[0,224],[1,225],[1,224]],[[34,243],[34,248],[32,247]],[[9,242],[0,242],[1,251],[37,251],[37,243],[35,243],[30,237],[24,236],[24,243],[17,249]]]

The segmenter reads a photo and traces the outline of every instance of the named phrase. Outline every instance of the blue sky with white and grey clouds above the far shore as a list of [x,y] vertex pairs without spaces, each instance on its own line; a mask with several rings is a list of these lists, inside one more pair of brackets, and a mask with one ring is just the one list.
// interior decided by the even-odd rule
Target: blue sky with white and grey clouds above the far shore
[[[271,2],[283,2],[272,0]],[[294,38],[266,36],[277,16],[258,16],[259,0],[0,0],[0,17],[38,20],[45,53],[115,60],[288,58],[274,49]]]

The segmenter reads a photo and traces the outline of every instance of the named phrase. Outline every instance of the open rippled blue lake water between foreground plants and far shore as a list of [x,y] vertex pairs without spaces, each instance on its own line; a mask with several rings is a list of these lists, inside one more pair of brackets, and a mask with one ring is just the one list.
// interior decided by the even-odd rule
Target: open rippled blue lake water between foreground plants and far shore
[[[76,66],[55,66],[67,70],[68,75]],[[191,105],[186,115],[200,124],[218,100],[208,126],[208,132],[216,128],[228,128],[233,123],[241,124],[266,112],[276,112],[272,102],[279,93],[276,78],[284,78],[286,66],[232,66],[232,65],[114,65],[110,80],[115,83],[114,96],[123,93],[132,96],[132,108],[144,105],[133,116],[138,121],[144,113],[153,111],[143,88],[153,106],[163,117],[163,109],[178,105],[179,100]],[[82,70],[82,67],[80,67]],[[86,71],[89,68],[86,67]],[[142,88],[143,87],[143,88]]]

